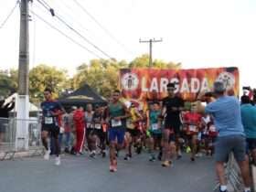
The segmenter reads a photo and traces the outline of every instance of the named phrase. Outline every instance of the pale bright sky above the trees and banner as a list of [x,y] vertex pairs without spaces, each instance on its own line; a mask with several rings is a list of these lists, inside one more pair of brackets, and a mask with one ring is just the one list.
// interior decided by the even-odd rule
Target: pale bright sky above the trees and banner
[[[253,0],[77,0],[103,27],[109,37],[73,0],[45,0],[59,16],[116,59],[131,60],[147,53],[139,38],[163,38],[153,46],[153,58],[181,62],[185,69],[240,68],[240,82],[256,87],[256,1]],[[16,0],[0,0],[0,24]],[[97,52],[67,27],[52,18],[34,0],[31,9],[49,23]],[[19,12],[0,28],[0,69],[17,68]],[[30,68],[39,63],[68,69],[95,58],[85,49],[62,37],[37,17],[30,22]],[[122,44],[123,46],[121,46]],[[125,47],[125,48],[124,48]]]

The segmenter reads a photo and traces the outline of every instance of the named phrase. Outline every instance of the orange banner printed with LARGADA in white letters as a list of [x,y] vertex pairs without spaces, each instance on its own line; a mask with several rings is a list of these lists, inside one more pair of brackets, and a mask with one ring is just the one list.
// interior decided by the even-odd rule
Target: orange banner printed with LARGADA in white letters
[[227,90],[239,95],[239,69],[121,69],[120,88],[126,100],[145,101],[163,99],[166,84],[174,82],[176,93],[193,101],[198,92],[211,91],[215,81],[223,81]]

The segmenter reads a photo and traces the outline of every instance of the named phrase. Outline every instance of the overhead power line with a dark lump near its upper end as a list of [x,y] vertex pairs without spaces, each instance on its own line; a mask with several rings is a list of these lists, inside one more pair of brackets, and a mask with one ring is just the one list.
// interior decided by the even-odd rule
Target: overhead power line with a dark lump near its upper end
[[[112,57],[110,55],[108,55],[106,52],[104,52],[103,50],[101,50],[101,48],[97,47],[96,45],[94,45],[91,40],[89,40],[88,38],[82,36],[80,34],[79,31],[77,31],[76,29],[74,29],[73,27],[71,27],[64,19],[62,19],[60,16],[56,15],[55,11],[53,8],[51,8],[48,4],[44,4],[42,3],[42,1],[37,0],[37,2],[39,2],[41,5],[43,5],[46,9],[48,9],[48,11],[50,12],[51,16],[55,16],[56,18],[59,19],[59,21],[61,23],[63,23],[66,27],[69,27],[70,30],[72,30],[74,33],[76,33],[78,36],[80,36],[83,40],[85,40],[87,43],[89,43],[93,48],[96,48],[97,50],[99,50],[103,55],[105,55],[106,57],[108,57],[109,59],[112,59]],[[44,1],[45,2],[45,1]]]

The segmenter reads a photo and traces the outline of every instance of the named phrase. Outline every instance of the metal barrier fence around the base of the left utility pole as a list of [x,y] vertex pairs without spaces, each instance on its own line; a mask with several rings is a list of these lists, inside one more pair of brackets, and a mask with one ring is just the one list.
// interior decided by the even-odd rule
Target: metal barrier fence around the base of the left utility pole
[[[28,126],[28,150],[16,150],[17,124]],[[16,118],[0,118],[0,160],[11,159],[17,152],[27,155],[40,154],[42,151],[41,125],[37,118],[21,120]]]

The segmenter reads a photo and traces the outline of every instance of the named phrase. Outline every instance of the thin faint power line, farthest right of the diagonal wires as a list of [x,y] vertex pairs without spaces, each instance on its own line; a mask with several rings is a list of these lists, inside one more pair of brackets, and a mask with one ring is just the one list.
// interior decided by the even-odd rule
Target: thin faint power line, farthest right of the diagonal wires
[[83,10],[83,12],[87,15],[87,16],[90,16],[91,19],[99,26],[101,27],[101,29],[109,36],[112,38],[112,40],[114,40],[118,45],[120,45],[126,52],[128,52],[129,54],[133,55],[132,51],[128,50],[122,42],[120,42],[120,40],[118,40],[116,37],[114,37],[112,35],[112,33],[106,28],[106,27],[103,27],[101,25],[101,23],[94,17],[91,15],[91,13],[83,6],[83,5],[80,5],[80,3],[77,1],[77,0],[73,0],[73,2],[75,2],[76,5],[78,5],[80,7],[81,10]]

